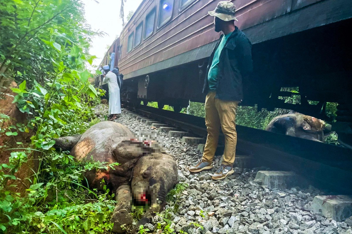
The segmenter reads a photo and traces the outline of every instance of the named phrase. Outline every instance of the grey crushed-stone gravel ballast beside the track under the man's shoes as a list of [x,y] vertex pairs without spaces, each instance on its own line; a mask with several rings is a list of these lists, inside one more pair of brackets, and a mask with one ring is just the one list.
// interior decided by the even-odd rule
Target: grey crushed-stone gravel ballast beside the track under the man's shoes
[[[107,105],[98,105],[96,114],[103,120]],[[122,113],[117,122],[131,131],[155,131],[136,119]],[[211,176],[219,166],[220,156],[215,156],[214,168],[191,174],[187,167],[201,159],[197,145],[188,145],[180,138],[169,138],[159,133],[164,149],[175,155],[178,179],[189,186],[179,198],[178,209],[172,214],[172,227],[176,233],[183,230],[189,234],[211,233],[263,233],[263,234],[352,234],[352,217],[336,222],[310,211],[314,196],[323,193],[312,186],[308,188],[271,190],[254,181],[258,171],[266,167],[234,168],[234,174],[224,180],[214,181]],[[159,217],[160,218],[160,217]],[[153,221],[158,221],[155,217]],[[189,225],[198,223],[203,226]],[[152,230],[152,224],[148,228]]]

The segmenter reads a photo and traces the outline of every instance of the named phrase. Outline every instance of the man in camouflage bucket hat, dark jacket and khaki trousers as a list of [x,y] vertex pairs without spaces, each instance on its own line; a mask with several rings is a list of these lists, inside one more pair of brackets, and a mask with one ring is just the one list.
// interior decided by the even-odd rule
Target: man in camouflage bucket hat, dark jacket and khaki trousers
[[220,127],[225,135],[225,151],[222,163],[212,176],[224,179],[233,173],[237,144],[236,110],[243,99],[242,81],[248,79],[253,70],[252,44],[234,21],[235,5],[221,1],[209,15],[214,16],[216,32],[222,32],[218,44],[210,55],[203,93],[205,100],[205,123],[208,136],[202,160],[189,168],[190,172],[201,172],[213,168],[212,162],[218,145]]

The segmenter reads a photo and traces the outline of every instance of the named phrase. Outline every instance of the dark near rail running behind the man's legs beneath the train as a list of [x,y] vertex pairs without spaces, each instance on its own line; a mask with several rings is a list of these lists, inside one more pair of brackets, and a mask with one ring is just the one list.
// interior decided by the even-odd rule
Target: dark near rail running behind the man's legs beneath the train
[[[130,111],[206,139],[204,118],[149,106],[125,106]],[[257,165],[292,171],[305,183],[330,194],[352,194],[352,151],[347,148],[237,126],[237,154],[251,155]],[[219,145],[224,142],[221,134]],[[220,146],[221,151],[221,146]]]

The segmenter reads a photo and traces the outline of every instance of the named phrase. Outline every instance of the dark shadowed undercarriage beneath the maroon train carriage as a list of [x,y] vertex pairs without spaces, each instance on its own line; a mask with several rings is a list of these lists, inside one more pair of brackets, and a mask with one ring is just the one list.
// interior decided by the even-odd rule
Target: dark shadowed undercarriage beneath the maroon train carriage
[[[241,105],[257,104],[258,111],[293,109],[332,121],[325,113],[326,103],[337,102],[332,130],[352,145],[352,46],[346,32],[351,26],[348,19],[254,44],[254,74],[244,82]],[[208,58],[203,58],[127,79],[122,100],[156,101],[159,108],[170,105],[175,111],[187,107],[189,101],[204,102],[207,64]],[[282,91],[283,87],[298,87],[298,93]],[[293,94],[300,95],[300,103],[282,100]]]

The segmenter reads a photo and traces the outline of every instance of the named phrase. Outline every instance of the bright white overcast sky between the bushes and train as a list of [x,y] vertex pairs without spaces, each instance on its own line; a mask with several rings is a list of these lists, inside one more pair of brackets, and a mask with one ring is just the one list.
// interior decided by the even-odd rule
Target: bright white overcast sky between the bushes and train
[[[90,54],[95,55],[98,59],[93,62],[93,67],[99,65],[106,52],[106,46],[111,45],[116,35],[122,31],[122,20],[120,19],[121,0],[85,0],[85,16],[87,23],[95,31],[103,31],[107,35],[94,38]],[[125,22],[129,11],[136,11],[142,0],[127,0],[124,5]]]

